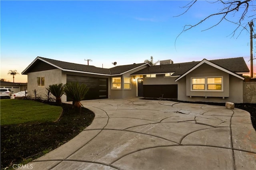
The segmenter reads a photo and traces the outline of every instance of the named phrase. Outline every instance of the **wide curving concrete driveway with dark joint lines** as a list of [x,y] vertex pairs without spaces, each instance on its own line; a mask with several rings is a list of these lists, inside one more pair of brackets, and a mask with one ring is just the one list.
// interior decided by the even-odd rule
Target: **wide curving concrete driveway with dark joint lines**
[[30,162],[33,170],[252,170],[256,132],[241,109],[170,101],[89,100],[92,124]]

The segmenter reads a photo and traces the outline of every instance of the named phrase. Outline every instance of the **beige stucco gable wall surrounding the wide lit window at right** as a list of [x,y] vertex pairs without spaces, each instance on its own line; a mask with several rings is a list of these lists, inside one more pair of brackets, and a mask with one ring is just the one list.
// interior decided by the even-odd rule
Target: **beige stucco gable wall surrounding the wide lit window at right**
[[[192,91],[191,78],[194,77],[223,77],[223,91]],[[243,102],[243,81],[226,72],[207,64],[193,70],[186,77],[178,80],[178,100],[190,102]]]

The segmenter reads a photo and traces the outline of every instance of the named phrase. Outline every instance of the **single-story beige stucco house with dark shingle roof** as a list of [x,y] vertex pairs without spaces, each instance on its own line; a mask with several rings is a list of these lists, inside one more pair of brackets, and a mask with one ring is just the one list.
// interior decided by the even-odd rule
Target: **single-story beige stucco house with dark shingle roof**
[[[99,68],[37,57],[22,74],[28,75],[28,94],[45,93],[50,84],[80,82],[90,90],[86,99],[172,98],[181,101],[243,102],[242,74],[249,69],[242,57],[173,63],[160,61]],[[62,101],[70,101],[65,95]]]

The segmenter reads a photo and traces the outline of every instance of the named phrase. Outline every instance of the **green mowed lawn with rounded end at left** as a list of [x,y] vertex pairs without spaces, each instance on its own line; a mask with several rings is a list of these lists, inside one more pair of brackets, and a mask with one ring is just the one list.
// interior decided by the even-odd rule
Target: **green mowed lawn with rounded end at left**
[[32,100],[1,99],[1,126],[56,121],[62,107]]

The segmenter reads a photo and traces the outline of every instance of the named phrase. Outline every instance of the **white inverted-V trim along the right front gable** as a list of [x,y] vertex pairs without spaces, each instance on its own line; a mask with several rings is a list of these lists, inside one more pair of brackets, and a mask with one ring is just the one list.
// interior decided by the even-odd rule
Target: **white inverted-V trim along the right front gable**
[[243,77],[241,77],[241,76],[235,74],[234,72],[231,72],[231,71],[229,71],[229,70],[226,70],[225,68],[222,68],[222,67],[220,67],[220,66],[218,66],[218,65],[216,65],[216,64],[214,64],[214,63],[211,63],[210,61],[208,61],[208,60],[206,60],[206,59],[203,59],[200,63],[198,63],[196,66],[194,66],[193,68],[191,68],[190,70],[188,70],[186,73],[184,73],[182,76],[180,76],[179,78],[177,78],[175,81],[180,80],[182,77],[186,76],[188,73],[192,72],[193,70],[195,70],[196,68],[198,68],[199,66],[201,66],[201,65],[204,64],[204,63],[206,63],[206,64],[208,64],[208,65],[210,65],[210,66],[213,66],[213,67],[215,67],[215,68],[217,68],[217,69],[219,69],[219,70],[222,70],[222,71],[224,71],[224,72],[227,72],[228,74],[231,74],[231,75],[233,75],[233,76],[235,76],[235,77],[237,77],[237,78],[240,78],[240,79],[244,80]]

